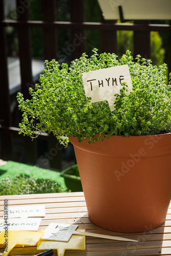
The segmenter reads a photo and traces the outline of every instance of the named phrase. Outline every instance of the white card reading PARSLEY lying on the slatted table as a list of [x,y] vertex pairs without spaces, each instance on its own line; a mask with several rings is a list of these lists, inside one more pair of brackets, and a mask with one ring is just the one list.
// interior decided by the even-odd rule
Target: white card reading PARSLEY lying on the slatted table
[[45,217],[45,205],[9,206],[8,218]]

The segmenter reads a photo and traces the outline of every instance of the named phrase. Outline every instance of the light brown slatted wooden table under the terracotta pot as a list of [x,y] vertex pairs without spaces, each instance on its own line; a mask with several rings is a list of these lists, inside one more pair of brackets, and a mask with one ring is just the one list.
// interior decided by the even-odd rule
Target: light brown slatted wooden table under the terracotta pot
[[[46,216],[42,218],[39,230],[46,228],[50,222],[78,224],[78,228],[89,232],[121,236],[139,242],[121,242],[93,237],[86,237],[86,250],[67,250],[70,256],[129,256],[129,255],[171,255],[171,205],[165,223],[151,231],[142,233],[118,233],[104,230],[94,225],[88,217],[83,193],[59,193],[38,195],[0,196],[0,214],[3,217],[4,199],[8,205],[45,204]],[[36,247],[14,248],[10,255],[37,254]],[[3,250],[1,249],[2,253]],[[54,255],[56,251],[54,251]]]

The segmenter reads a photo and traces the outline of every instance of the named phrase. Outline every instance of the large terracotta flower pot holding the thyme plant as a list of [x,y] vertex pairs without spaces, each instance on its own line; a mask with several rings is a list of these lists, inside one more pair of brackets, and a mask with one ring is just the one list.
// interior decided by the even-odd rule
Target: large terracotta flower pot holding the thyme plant
[[74,145],[90,220],[118,232],[160,226],[171,198],[171,133]]

